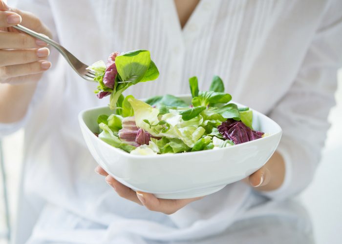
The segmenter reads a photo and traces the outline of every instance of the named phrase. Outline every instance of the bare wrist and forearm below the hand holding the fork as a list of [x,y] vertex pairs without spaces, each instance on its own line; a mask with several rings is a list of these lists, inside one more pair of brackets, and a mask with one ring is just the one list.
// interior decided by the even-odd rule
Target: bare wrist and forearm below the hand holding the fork
[[37,82],[0,84],[0,123],[18,122],[25,116],[36,86]]

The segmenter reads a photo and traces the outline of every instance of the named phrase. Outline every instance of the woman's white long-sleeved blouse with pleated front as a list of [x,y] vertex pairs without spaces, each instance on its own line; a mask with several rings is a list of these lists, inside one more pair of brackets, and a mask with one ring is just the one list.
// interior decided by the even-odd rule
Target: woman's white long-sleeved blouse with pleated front
[[[132,86],[126,95],[189,93],[194,75],[206,90],[212,77],[220,76],[234,101],[269,115],[283,129],[278,151],[285,159],[285,181],[263,194],[281,200],[310,183],[341,66],[341,0],[201,0],[183,29],[173,0],[20,0],[18,8],[38,15],[54,38],[87,64],[106,60],[112,51],[150,50],[160,77]],[[94,173],[77,121],[79,111],[108,99],[98,100],[95,84],[79,78],[53,49],[51,61],[54,68],[40,81],[26,118],[0,126],[5,135],[25,124],[24,191],[38,209],[45,204],[33,239],[61,240],[58,230],[69,226],[64,241],[72,242],[77,231],[65,224],[69,215],[92,223],[86,227],[93,233],[86,234],[88,243],[100,242],[91,239],[100,229],[106,240],[204,238],[246,216],[267,215],[266,210],[249,215],[258,197],[240,182],[171,216],[116,196]],[[64,212],[53,219],[56,211]]]

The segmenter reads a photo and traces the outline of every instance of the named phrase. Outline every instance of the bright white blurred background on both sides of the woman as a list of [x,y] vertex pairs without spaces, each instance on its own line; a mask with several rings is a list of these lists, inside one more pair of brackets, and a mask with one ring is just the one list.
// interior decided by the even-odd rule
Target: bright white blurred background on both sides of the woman
[[[342,240],[342,69],[338,76],[336,106],[330,111],[331,127],[322,151],[321,163],[314,181],[298,197],[311,216],[317,244],[340,244]],[[0,244],[7,244],[7,225],[14,226],[16,220],[23,135],[23,131],[20,130],[1,142],[0,157],[4,174],[0,176]],[[5,186],[7,206],[4,197]]]

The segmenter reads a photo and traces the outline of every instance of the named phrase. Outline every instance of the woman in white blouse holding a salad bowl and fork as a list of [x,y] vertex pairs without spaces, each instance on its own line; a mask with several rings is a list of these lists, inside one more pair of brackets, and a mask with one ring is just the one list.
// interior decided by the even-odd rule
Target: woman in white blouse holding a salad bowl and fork
[[[18,8],[0,0],[0,130],[26,128],[24,193],[39,212],[27,243],[312,241],[298,206],[267,199],[298,194],[319,162],[342,54],[341,1],[21,0]],[[96,167],[109,187],[77,122],[107,100],[55,50],[47,61],[45,44],[11,28],[18,23],[88,64],[150,50],[161,75],[132,86],[126,94],[136,97],[187,93],[193,75],[206,88],[219,75],[235,101],[280,124],[277,152],[247,184],[202,199],[158,200]]]

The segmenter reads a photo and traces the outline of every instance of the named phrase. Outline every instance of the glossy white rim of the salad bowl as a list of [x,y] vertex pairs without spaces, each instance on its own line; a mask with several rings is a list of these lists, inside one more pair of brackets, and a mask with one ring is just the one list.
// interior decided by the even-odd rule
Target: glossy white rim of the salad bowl
[[[176,97],[179,97],[179,98],[184,98],[184,97],[189,97],[191,95],[178,95]],[[231,102],[234,102],[234,101],[231,101]],[[235,104],[237,104],[238,106],[245,106],[241,103],[238,103],[238,102],[234,102]],[[245,106],[247,107],[247,106]],[[92,111],[92,110],[99,110],[99,109],[104,109],[104,108],[107,108],[107,106],[96,106],[96,107],[92,107],[92,108],[87,108],[87,109],[83,109],[82,111],[79,112],[78,114],[78,120],[79,120],[79,124],[80,126],[83,126],[85,127],[85,129],[90,133],[92,134],[92,136],[95,137],[95,140],[97,139],[98,141],[100,141],[100,143],[102,143],[104,146],[106,146],[108,149],[114,149],[117,153],[123,155],[124,157],[129,157],[129,158],[135,158],[135,159],[156,159],[156,158],[174,158],[174,157],[182,157],[183,154],[189,154],[191,153],[191,155],[201,155],[201,154],[206,154],[206,153],[214,153],[214,152],[218,152],[218,151],[223,151],[223,150],[230,150],[230,148],[238,148],[238,147],[241,147],[243,145],[246,145],[246,144],[251,144],[251,143],[256,143],[258,141],[261,141],[261,140],[268,140],[268,138],[272,138],[272,137],[276,137],[278,136],[278,134],[282,134],[282,129],[281,127],[278,125],[277,122],[275,122],[274,120],[272,120],[271,118],[269,118],[268,116],[256,111],[255,109],[249,107],[249,109],[251,109],[254,113],[256,113],[258,116],[261,116],[261,117],[266,117],[268,120],[271,120],[276,127],[278,127],[278,132],[274,133],[274,134],[271,134],[271,135],[268,135],[267,137],[263,137],[263,138],[260,138],[260,139],[257,139],[257,140],[254,140],[254,141],[249,141],[249,142],[243,142],[243,143],[240,143],[240,144],[237,144],[237,145],[232,145],[232,146],[229,146],[229,147],[222,147],[222,148],[216,148],[216,149],[212,149],[212,150],[201,150],[201,151],[195,151],[195,152],[183,152],[183,153],[165,153],[165,154],[154,154],[154,155],[135,155],[135,154],[130,154],[120,148],[117,148],[115,146],[112,146],[104,141],[102,141],[100,138],[98,138],[90,129],[89,127],[85,124],[85,121],[84,121],[84,115],[86,112],[88,111]]]

